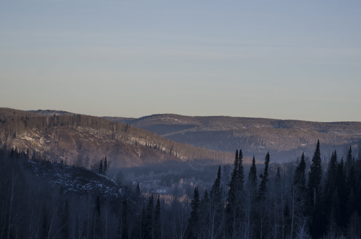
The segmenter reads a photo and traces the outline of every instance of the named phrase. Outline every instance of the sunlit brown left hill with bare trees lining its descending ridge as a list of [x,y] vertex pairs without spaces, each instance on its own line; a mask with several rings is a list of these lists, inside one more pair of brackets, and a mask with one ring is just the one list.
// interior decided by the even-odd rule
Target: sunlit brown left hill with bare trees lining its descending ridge
[[[113,168],[167,162],[232,162],[234,153],[166,139],[150,131],[95,116],[54,110],[0,108],[0,147],[95,170],[107,156]],[[41,153],[41,156],[37,155]]]

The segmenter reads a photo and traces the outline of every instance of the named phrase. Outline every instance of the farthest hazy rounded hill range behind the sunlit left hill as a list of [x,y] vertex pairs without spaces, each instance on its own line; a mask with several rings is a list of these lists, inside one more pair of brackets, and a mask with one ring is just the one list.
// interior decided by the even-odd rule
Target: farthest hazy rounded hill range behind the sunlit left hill
[[182,116],[154,114],[141,118],[104,117],[129,123],[165,138],[196,147],[234,152],[242,148],[245,156],[289,161],[304,151],[312,156],[317,139],[322,152],[342,151],[361,140],[361,122],[311,122],[229,116]]

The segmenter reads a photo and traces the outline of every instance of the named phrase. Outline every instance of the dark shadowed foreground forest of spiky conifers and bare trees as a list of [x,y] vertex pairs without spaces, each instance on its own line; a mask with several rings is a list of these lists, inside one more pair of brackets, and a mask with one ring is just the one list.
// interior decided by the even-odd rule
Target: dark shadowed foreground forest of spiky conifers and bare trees
[[[351,147],[346,158],[332,152],[326,164],[319,142],[310,162],[302,155],[297,162],[274,164],[267,153],[263,170],[257,171],[261,167],[253,158],[248,175],[237,150],[226,187],[225,165],[219,165],[212,187],[194,184],[192,198],[175,196],[169,204],[141,192],[139,183],[113,199],[65,192],[62,184],[31,173],[29,163],[39,169],[47,165],[29,151],[0,152],[0,238],[361,236],[361,158]],[[98,175],[104,170],[101,164]]]

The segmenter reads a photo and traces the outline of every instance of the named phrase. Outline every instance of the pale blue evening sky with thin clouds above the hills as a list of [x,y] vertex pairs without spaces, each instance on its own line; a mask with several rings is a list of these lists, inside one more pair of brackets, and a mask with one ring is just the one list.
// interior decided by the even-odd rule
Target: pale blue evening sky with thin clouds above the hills
[[0,107],[361,121],[361,1],[0,1]]

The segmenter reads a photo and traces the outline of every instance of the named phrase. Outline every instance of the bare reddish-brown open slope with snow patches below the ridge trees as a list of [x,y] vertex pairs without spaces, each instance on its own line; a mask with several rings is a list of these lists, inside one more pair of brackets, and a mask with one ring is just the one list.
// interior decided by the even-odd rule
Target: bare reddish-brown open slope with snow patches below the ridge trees
[[[151,149],[136,147],[124,142],[97,137],[81,127],[51,127],[44,130],[32,129],[13,140],[12,145],[26,151],[30,148],[42,152],[45,160],[67,165],[92,168],[99,166],[106,156],[113,168],[140,166],[162,161],[181,161],[175,156]],[[140,154],[138,152],[141,152]],[[31,152],[30,155],[33,153]]]

